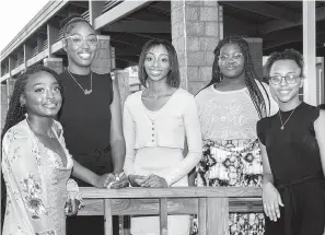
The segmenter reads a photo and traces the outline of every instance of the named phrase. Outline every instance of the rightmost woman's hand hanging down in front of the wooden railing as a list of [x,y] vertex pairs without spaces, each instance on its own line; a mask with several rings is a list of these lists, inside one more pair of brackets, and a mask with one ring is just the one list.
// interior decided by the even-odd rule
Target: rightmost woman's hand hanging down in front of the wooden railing
[[271,220],[280,218],[280,207],[285,207],[281,196],[271,183],[263,185],[263,207],[265,214]]

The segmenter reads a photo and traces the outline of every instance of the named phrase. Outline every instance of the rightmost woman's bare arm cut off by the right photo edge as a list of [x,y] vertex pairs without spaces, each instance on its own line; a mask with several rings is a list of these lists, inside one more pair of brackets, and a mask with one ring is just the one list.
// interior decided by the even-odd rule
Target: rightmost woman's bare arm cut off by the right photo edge
[[320,146],[323,173],[325,175],[325,110],[320,110],[320,117],[314,121],[314,129]]

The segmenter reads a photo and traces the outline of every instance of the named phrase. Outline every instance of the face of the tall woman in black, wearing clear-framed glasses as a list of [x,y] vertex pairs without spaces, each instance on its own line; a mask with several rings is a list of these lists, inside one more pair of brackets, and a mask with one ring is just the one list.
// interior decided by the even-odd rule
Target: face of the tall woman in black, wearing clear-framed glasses
[[97,36],[94,30],[84,22],[72,23],[63,40],[68,54],[69,67],[90,67],[97,49]]

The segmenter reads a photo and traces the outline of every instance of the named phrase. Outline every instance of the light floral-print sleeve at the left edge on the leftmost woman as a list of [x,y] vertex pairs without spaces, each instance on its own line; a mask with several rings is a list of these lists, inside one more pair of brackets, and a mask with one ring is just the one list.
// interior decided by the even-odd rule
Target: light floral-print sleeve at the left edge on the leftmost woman
[[[8,183],[8,196],[15,204],[15,212],[27,220],[28,234],[54,234],[55,223],[48,213],[46,191],[37,165],[42,156],[33,151],[27,134],[7,132],[3,139],[3,175]],[[39,158],[38,158],[39,157]],[[38,158],[38,160],[37,160]]]

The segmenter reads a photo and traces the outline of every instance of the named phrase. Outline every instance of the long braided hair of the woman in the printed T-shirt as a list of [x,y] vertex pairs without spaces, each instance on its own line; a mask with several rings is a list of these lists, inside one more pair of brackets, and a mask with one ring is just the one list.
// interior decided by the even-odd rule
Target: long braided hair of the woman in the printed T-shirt
[[[248,43],[240,37],[240,36],[229,36],[223,38],[222,40],[219,42],[218,46],[214,49],[214,61],[213,61],[213,66],[212,66],[212,80],[210,81],[210,83],[204,87],[207,89],[208,86],[212,85],[212,84],[218,84],[219,82],[221,82],[222,80],[222,73],[220,71],[219,68],[219,56],[220,56],[220,50],[221,48],[227,45],[227,44],[236,44],[239,45],[239,47],[241,48],[244,58],[245,58],[245,62],[244,62],[244,72],[245,72],[245,84],[248,89],[249,92],[249,96],[253,101],[253,104],[258,113],[259,118],[263,118],[265,116],[267,116],[267,111],[266,111],[266,103],[264,99],[264,96],[257,85],[257,82],[259,82],[255,70],[254,70],[254,64],[253,64],[253,59],[249,52],[249,46]],[[260,83],[262,87],[265,90],[264,85]],[[270,101],[269,101],[269,96],[268,93],[265,91],[266,97],[268,99],[268,113],[270,111]]]

